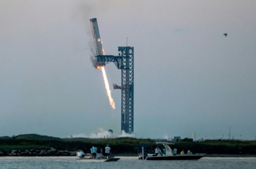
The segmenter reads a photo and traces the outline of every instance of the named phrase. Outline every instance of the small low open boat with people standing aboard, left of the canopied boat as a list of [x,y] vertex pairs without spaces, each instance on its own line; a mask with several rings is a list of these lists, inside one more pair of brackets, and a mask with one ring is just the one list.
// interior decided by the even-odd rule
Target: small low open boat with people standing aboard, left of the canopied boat
[[[83,155],[83,156],[82,156]],[[113,155],[103,156],[101,153],[97,153],[96,158],[92,158],[92,154],[84,154],[82,151],[76,151],[76,159],[85,162],[116,162],[120,158],[115,158]]]

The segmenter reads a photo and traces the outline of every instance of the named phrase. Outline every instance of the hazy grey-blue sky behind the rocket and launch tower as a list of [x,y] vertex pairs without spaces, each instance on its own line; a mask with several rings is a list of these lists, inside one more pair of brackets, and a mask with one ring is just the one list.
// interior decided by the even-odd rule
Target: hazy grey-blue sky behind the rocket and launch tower
[[255,15],[254,0],[0,0],[0,136],[121,136],[121,70],[105,67],[112,109],[90,61],[97,18],[107,55],[134,47],[133,137],[255,140]]

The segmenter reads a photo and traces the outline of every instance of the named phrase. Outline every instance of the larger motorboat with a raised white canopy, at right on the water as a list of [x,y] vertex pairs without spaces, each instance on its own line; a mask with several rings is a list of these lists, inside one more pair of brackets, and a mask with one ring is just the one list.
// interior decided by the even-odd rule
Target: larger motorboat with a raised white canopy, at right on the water
[[[183,154],[183,155],[175,155],[173,154],[172,149],[169,145],[174,145],[174,143],[170,142],[156,142],[157,144],[162,144],[165,147],[165,154],[159,152],[157,156],[155,155],[148,155],[148,154],[140,154],[139,159],[145,159],[145,160],[198,160],[202,157],[204,157],[205,154]],[[143,157],[143,158],[142,158]]]

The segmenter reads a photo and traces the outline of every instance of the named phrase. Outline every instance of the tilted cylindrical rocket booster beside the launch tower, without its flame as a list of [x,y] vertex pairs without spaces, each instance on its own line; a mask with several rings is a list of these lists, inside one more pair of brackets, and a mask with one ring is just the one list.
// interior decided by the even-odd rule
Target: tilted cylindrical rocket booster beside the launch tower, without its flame
[[[90,19],[90,22],[91,22],[91,27],[92,27],[92,35],[93,35],[94,45],[95,45],[95,49],[96,49],[96,54],[104,55],[102,43],[101,43],[101,39],[100,39],[100,32],[99,32],[97,18]],[[99,66],[106,65],[105,62],[98,62],[98,64],[99,64]]]

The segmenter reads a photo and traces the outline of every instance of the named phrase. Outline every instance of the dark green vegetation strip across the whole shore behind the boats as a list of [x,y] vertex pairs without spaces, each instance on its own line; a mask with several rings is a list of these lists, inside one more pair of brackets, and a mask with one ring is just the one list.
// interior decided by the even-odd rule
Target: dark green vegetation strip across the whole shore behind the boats
[[[205,154],[256,154],[256,141],[242,140],[205,140],[193,142],[191,139],[183,139],[180,142],[173,142],[171,148],[177,148],[178,153],[182,149],[192,151],[193,153]],[[57,138],[49,136],[40,136],[38,134],[22,134],[12,137],[0,137],[0,150],[48,150],[51,147],[58,150],[76,151],[83,149],[86,153],[92,146],[104,148],[110,145],[113,154],[134,154],[135,147],[139,145],[150,145],[153,149],[156,142],[151,139],[136,138]],[[160,146],[160,148],[163,148]],[[151,153],[151,152],[150,152]]]

